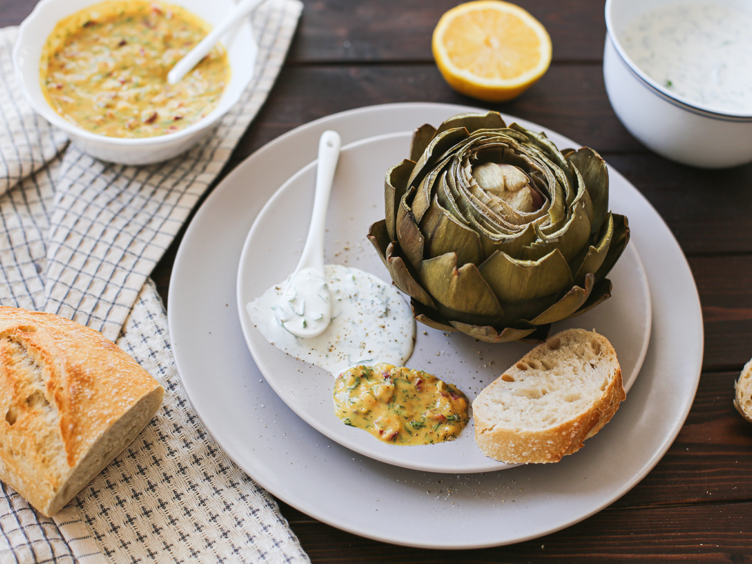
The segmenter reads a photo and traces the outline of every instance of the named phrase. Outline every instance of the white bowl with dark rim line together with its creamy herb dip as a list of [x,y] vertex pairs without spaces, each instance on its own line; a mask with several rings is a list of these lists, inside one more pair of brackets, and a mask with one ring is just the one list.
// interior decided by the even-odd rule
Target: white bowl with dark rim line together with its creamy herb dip
[[605,20],[606,92],[632,135],[686,165],[752,161],[752,3],[607,0]]

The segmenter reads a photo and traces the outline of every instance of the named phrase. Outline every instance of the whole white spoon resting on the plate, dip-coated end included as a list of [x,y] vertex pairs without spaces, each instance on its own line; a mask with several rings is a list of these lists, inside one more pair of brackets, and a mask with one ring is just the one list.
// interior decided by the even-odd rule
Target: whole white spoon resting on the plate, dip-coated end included
[[280,307],[274,310],[277,321],[302,338],[320,335],[332,320],[332,299],[324,276],[324,227],[340,144],[337,132],[329,130],[321,134],[308,238],[300,262],[282,293]]

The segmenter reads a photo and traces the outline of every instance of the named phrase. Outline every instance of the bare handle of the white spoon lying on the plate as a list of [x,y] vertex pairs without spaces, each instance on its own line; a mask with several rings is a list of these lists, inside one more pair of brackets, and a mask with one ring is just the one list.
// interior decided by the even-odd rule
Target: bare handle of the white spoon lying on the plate
[[308,238],[305,240],[305,247],[303,247],[296,273],[305,266],[313,266],[323,273],[326,209],[329,208],[329,193],[332,192],[332,181],[337,168],[340,145],[341,139],[337,132],[328,130],[321,134],[316,168],[314,210],[311,213],[311,226],[308,228]]

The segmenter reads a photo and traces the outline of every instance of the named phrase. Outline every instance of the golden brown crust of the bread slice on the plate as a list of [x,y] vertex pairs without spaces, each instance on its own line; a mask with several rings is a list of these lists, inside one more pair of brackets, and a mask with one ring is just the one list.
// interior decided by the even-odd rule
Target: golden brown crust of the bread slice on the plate
[[[553,335],[546,343],[538,345],[516,363],[526,362],[534,358],[541,347],[554,338],[563,340],[568,333],[580,331],[589,338],[597,336],[600,344],[604,347],[603,353],[613,355],[616,360],[616,351],[608,339],[594,332],[586,332],[583,329],[568,329]],[[505,374],[514,374],[515,368],[505,371]],[[501,426],[499,420],[493,417],[488,408],[481,405],[484,395],[493,393],[494,388],[507,385],[502,377],[497,378],[476,397],[473,402],[473,417],[475,420],[475,441],[481,451],[493,459],[504,462],[559,462],[562,456],[575,453],[583,446],[585,439],[592,437],[611,420],[620,402],[626,399],[622,383],[621,368],[615,362],[614,373],[608,387],[602,395],[590,405],[587,410],[570,420],[562,421],[559,425],[550,426],[546,429],[514,429],[509,426]],[[503,388],[502,388],[503,389]]]

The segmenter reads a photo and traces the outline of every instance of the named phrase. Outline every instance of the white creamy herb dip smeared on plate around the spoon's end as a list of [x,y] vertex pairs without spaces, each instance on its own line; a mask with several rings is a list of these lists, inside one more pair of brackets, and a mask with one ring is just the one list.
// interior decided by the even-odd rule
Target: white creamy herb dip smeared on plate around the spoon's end
[[278,349],[333,376],[358,364],[405,364],[413,353],[415,320],[399,290],[359,268],[326,265],[324,274],[332,321],[323,333],[300,338],[282,326],[275,313],[287,280],[246,305],[253,325]]

